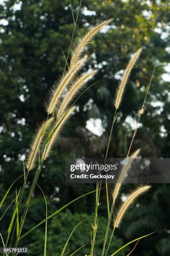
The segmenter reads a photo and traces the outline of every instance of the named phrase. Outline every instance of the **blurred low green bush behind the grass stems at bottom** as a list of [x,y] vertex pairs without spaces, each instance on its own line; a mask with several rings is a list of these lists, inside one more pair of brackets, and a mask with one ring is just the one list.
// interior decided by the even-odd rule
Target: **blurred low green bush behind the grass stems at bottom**
[[[87,215],[86,213],[75,213],[72,214],[70,211],[61,212],[58,219],[53,218],[51,223],[48,225],[48,236],[47,236],[47,255],[51,256],[59,256],[62,252],[62,249],[67,241],[67,238],[69,234],[72,232],[73,228],[85,218],[91,217]],[[67,245],[65,253],[73,252],[76,249],[80,248],[80,246],[88,243],[84,248],[80,250],[80,252],[77,255],[89,255],[90,251],[90,225],[92,220],[88,219],[85,220],[85,222],[82,223],[73,235],[70,238],[70,241]],[[99,218],[99,227],[97,230],[97,239],[95,244],[94,252],[96,252],[97,255],[101,255],[102,251],[102,245],[104,241],[105,236],[105,227],[106,227],[106,220],[103,217]],[[111,229],[109,232],[109,236],[111,235]],[[40,230],[36,230],[34,233],[32,233],[31,237],[32,241],[37,243],[34,247],[30,248],[31,255],[36,255],[36,252],[39,252],[39,255],[43,255],[43,241],[44,241],[44,233]],[[123,245],[123,241],[120,238],[117,238],[114,236],[113,242],[110,246],[109,253],[113,253],[118,248],[120,248]],[[120,252],[120,256],[126,255],[126,252],[128,249],[125,249],[124,251]]]

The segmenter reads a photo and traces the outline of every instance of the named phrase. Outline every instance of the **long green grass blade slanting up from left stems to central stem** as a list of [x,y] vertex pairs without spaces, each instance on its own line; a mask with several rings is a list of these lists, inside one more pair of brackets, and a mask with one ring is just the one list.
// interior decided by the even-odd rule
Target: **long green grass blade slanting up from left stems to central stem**
[[45,218],[44,220],[42,220],[39,224],[37,224],[34,228],[32,228],[31,230],[29,230],[27,233],[25,233],[23,236],[20,237],[19,241],[24,238],[25,236],[27,236],[29,233],[31,233],[33,230],[35,230],[36,228],[38,228],[40,225],[42,225],[43,223],[45,223],[46,220],[49,220],[50,218],[54,217],[57,213],[59,213],[60,211],[62,211],[63,209],[65,209],[68,205],[72,204],[73,202],[75,202],[76,200],[85,197],[86,195],[90,195],[92,193],[96,192],[96,190],[88,192],[84,195],[81,195],[80,197],[75,198],[74,200],[72,200],[71,202],[67,203],[66,205],[62,206],[59,210],[57,210],[56,212],[52,213],[50,216],[48,216],[47,218]]

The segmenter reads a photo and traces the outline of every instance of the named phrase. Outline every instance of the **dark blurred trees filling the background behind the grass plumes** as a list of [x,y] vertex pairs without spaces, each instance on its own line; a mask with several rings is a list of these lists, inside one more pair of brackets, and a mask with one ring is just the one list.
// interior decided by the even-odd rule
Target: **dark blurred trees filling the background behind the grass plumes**
[[[23,174],[21,154],[25,157],[35,129],[46,118],[45,95],[62,74],[74,23],[69,0],[1,0],[0,1],[0,195]],[[80,0],[72,0],[76,18]],[[143,47],[128,82],[125,97],[113,131],[108,157],[124,157],[135,127],[147,86],[156,64],[153,82],[145,105],[145,114],[133,143],[141,147],[143,157],[169,157],[170,148],[170,3],[168,0],[82,0],[74,40],[102,20],[114,20],[95,36],[88,47],[89,61],[84,68],[100,71],[88,85],[97,82],[78,101],[78,111],[62,131],[55,150],[45,162],[38,184],[47,197],[48,214],[94,188],[92,184],[65,184],[65,159],[71,157],[102,157],[105,154],[114,113],[113,99],[123,69],[131,54]],[[62,49],[61,49],[62,48]],[[170,79],[169,79],[170,80]],[[87,85],[87,86],[88,86]],[[88,124],[100,124],[100,131]],[[30,172],[27,191],[34,176]],[[23,180],[17,182],[19,188]],[[126,185],[124,192],[133,186]],[[135,187],[135,185],[134,185]],[[112,187],[110,187],[112,189]],[[138,236],[157,230],[135,249],[138,256],[170,255],[170,186],[153,185],[130,210],[124,225],[117,230],[112,249]],[[15,191],[7,198],[8,205]],[[101,230],[97,236],[96,253],[100,255],[107,215],[105,192],[99,207]],[[83,205],[83,207],[82,207]],[[49,221],[47,255],[60,255],[71,229],[83,218],[92,216],[95,195],[82,198]],[[5,210],[5,207],[2,209]],[[40,222],[45,215],[40,189],[35,190],[23,232]],[[45,214],[45,213],[44,213]],[[11,212],[0,225],[6,236]],[[73,225],[74,224],[74,225]],[[100,223],[99,223],[100,224]],[[72,228],[71,228],[72,225]],[[90,222],[75,232],[70,250],[90,242]],[[63,229],[64,226],[64,229]],[[68,226],[68,228],[67,228]],[[84,234],[83,234],[84,232]],[[60,234],[62,234],[60,236]],[[101,236],[100,236],[101,234]],[[31,255],[37,255],[44,237],[44,225],[22,242],[36,242]],[[21,243],[21,244],[22,244]],[[115,246],[115,247],[114,247]],[[87,245],[88,247],[88,245]],[[52,249],[58,251],[52,254]],[[88,249],[82,253],[88,254]],[[122,251],[125,255],[126,251]],[[41,251],[38,255],[42,255]],[[111,252],[110,252],[111,253]],[[82,255],[82,254],[81,254]]]

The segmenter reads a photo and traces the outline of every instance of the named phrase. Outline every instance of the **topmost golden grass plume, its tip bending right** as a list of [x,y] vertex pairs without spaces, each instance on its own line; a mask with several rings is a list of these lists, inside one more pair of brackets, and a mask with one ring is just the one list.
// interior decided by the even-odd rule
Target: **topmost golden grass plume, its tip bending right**
[[80,59],[82,52],[84,51],[87,44],[90,42],[90,40],[95,36],[95,34],[105,25],[109,24],[113,19],[105,20],[101,22],[99,25],[95,26],[94,28],[91,28],[87,33],[78,38],[77,43],[73,47],[71,51],[71,61],[70,61],[70,68]]

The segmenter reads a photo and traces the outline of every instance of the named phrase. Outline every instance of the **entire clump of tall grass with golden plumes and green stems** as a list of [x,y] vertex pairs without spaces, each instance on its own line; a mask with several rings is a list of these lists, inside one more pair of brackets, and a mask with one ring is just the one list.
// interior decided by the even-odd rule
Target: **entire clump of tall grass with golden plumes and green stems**
[[[80,10],[80,8],[79,8],[79,10]],[[30,207],[32,195],[34,193],[40,172],[42,170],[43,163],[49,156],[50,152],[52,151],[52,148],[54,147],[55,143],[57,143],[57,138],[60,135],[62,128],[65,126],[65,124],[67,123],[69,118],[71,118],[71,116],[75,113],[75,111],[76,111],[75,101],[76,101],[77,97],[80,95],[80,92],[83,90],[83,87],[85,86],[87,81],[89,79],[91,79],[92,77],[94,77],[95,74],[97,73],[97,70],[95,70],[95,69],[87,71],[87,73],[85,73],[85,74],[81,73],[82,67],[85,65],[85,63],[88,59],[87,55],[83,55],[84,51],[85,51],[87,45],[90,43],[90,40],[92,40],[92,38],[94,38],[95,34],[101,28],[103,28],[105,25],[109,24],[111,21],[112,21],[112,19],[106,20],[106,21],[103,21],[102,23],[100,23],[99,25],[95,26],[94,28],[90,28],[87,31],[87,33],[85,33],[85,35],[78,38],[77,41],[75,42],[74,46],[70,47],[70,49],[69,49],[69,52],[71,52],[70,63],[69,64],[67,63],[67,69],[64,68],[63,74],[57,80],[57,82],[54,84],[54,86],[52,87],[52,89],[50,90],[50,92],[48,94],[47,100],[45,101],[45,110],[47,111],[47,118],[46,118],[46,120],[44,120],[42,122],[40,127],[35,132],[35,135],[30,144],[30,151],[27,155],[26,161],[24,162],[24,182],[23,182],[23,186],[19,190],[16,190],[16,193],[15,193],[16,198],[11,203],[11,204],[14,203],[14,208],[13,208],[13,214],[11,217],[10,225],[7,230],[7,238],[6,238],[5,242],[0,234],[4,247],[7,247],[7,246],[10,247],[11,245],[14,245],[15,247],[17,247],[18,243],[25,236],[27,236],[33,230],[35,230],[40,225],[45,223],[44,255],[46,256],[47,220],[49,220],[50,218],[57,215],[61,210],[65,209],[71,203],[77,201],[78,199],[80,199],[86,195],[89,195],[90,193],[95,192],[96,193],[95,216],[94,216],[92,228],[91,228],[91,246],[90,246],[90,251],[89,251],[90,256],[94,256],[95,241],[97,239],[97,228],[98,228],[98,225],[100,225],[100,221],[97,218],[97,214],[98,214],[98,209],[100,206],[100,191],[102,189],[101,181],[97,182],[96,189],[94,191],[87,192],[86,194],[75,198],[74,200],[72,200],[71,202],[62,206],[60,209],[58,209],[57,211],[55,211],[54,213],[52,213],[49,216],[47,216],[47,201],[45,199],[46,218],[44,220],[42,220],[40,223],[38,223],[35,227],[33,227],[32,229],[27,231],[25,234],[22,234],[22,231],[23,231],[23,226],[25,225],[25,219],[26,219],[26,216],[28,213],[28,209]],[[76,25],[76,22],[77,22],[77,18],[76,18],[76,20],[74,20],[75,25]],[[120,108],[123,93],[124,93],[125,86],[128,81],[128,77],[130,76],[130,72],[133,69],[134,64],[137,61],[138,57],[140,56],[141,51],[142,51],[142,49],[140,48],[134,54],[134,56],[130,59],[130,62],[128,63],[127,68],[125,69],[124,75],[120,81],[120,84],[118,86],[118,89],[117,89],[117,92],[115,95],[115,100],[114,100],[115,114],[113,117],[112,127],[110,130],[110,136],[109,136],[108,143],[107,143],[105,160],[107,159],[107,153],[108,153],[109,146],[110,146],[110,140],[111,140],[111,136],[112,136],[113,126],[116,122],[117,115],[118,115],[117,110]],[[67,61],[67,59],[66,59],[66,61]],[[148,91],[147,91],[147,94],[148,94]],[[147,94],[146,94],[146,96],[147,96]],[[145,96],[145,100],[146,100],[146,96]],[[144,103],[145,103],[145,100],[144,100]],[[144,103],[143,103],[142,108],[139,111],[140,116],[143,114],[143,111],[144,111]],[[140,120],[140,117],[138,119],[138,122],[139,122],[139,120]],[[105,240],[103,241],[102,256],[104,254],[107,255],[109,245],[112,241],[112,236],[115,231],[115,228],[118,228],[120,226],[122,218],[125,215],[125,213],[127,212],[130,205],[132,205],[132,203],[138,196],[140,196],[144,192],[148,191],[148,189],[150,188],[150,186],[139,187],[134,192],[132,192],[128,196],[127,201],[124,204],[122,204],[122,206],[120,207],[120,210],[117,213],[116,219],[114,220],[114,226],[112,227],[112,235],[110,237],[109,245],[106,250],[105,246],[106,246],[107,239],[108,239],[108,233],[109,233],[108,231],[111,226],[111,220],[114,217],[113,208],[115,205],[115,200],[117,199],[117,197],[120,193],[120,188],[121,188],[122,182],[124,180],[125,174],[130,170],[130,165],[133,163],[133,160],[138,156],[138,154],[140,154],[140,149],[137,149],[129,157],[130,149],[131,149],[131,146],[133,143],[133,139],[135,138],[136,131],[137,131],[137,128],[135,130],[135,133],[133,134],[133,138],[131,140],[130,147],[128,149],[127,158],[126,158],[127,163],[125,164],[125,166],[123,166],[122,171],[120,173],[120,177],[118,179],[118,182],[115,185],[115,188],[112,192],[111,207],[109,205],[108,188],[107,188],[107,182],[106,182],[108,220],[107,220],[107,227],[106,227],[106,233],[105,233]],[[25,175],[25,166],[26,166],[26,175]],[[27,183],[28,175],[32,169],[35,169],[34,179],[30,185],[26,202],[24,203],[24,211],[21,212],[20,208],[21,208],[21,204],[23,203],[23,195],[25,192],[25,185]],[[14,184],[15,184],[15,182],[10,186],[10,188],[7,190],[5,196],[2,198],[2,201],[0,202],[0,207],[2,207],[2,204],[5,200],[5,198],[7,197],[8,193],[10,192],[10,189],[13,187]],[[45,198],[45,195],[43,192],[42,192],[42,194]],[[7,208],[7,210],[8,210],[8,208]],[[2,218],[3,218],[3,215],[1,216],[0,220]],[[72,233],[84,221],[85,220],[78,223],[77,226],[72,230]],[[17,235],[16,239],[15,239],[15,231],[16,231],[16,235]],[[61,255],[65,255],[64,254],[65,249],[66,249],[67,243],[70,240],[70,237],[72,236],[72,233],[68,237],[68,239],[65,243],[65,246],[61,252]],[[141,239],[141,238],[138,238],[138,239]],[[81,246],[81,248],[82,247],[83,246]],[[124,247],[122,247],[122,248],[124,248]],[[79,248],[79,249],[81,249],[81,248]],[[122,248],[120,248],[119,251]],[[79,249],[75,248],[75,252],[79,251]],[[75,254],[75,252],[72,252],[71,255]],[[113,253],[113,254],[115,255],[115,253]],[[3,255],[8,255],[8,254],[4,253]],[[16,253],[14,253],[14,256],[15,255],[16,255]]]

